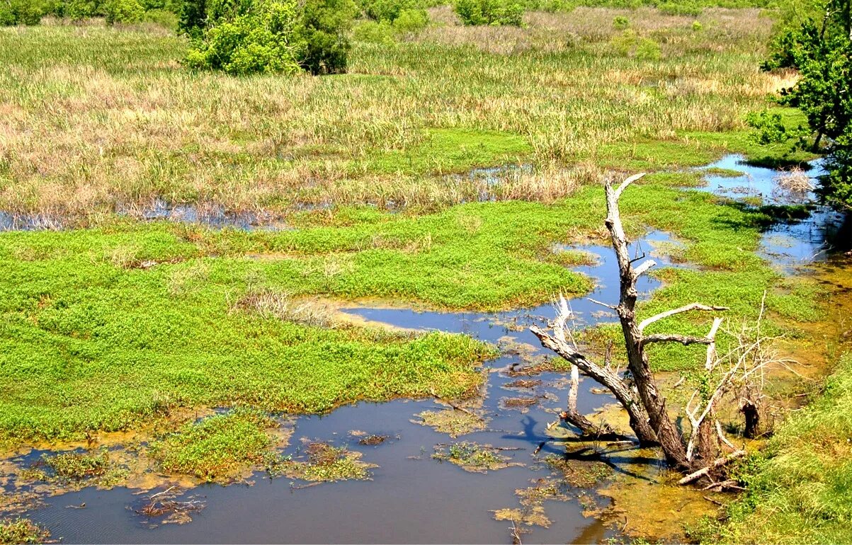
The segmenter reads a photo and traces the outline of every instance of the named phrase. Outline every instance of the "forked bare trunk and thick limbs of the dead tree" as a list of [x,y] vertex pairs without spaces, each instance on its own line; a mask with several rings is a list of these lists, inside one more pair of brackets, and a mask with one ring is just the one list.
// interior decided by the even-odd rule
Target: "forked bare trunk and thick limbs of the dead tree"
[[[630,259],[628,242],[619,215],[619,198],[631,183],[641,177],[642,175],[631,176],[618,187],[613,187],[613,184],[607,181],[605,186],[607,195],[605,225],[618,259],[621,289],[617,306],[600,304],[612,308],[619,316],[625,340],[627,369],[630,371],[632,383],[619,376],[617,370],[613,370],[609,362],[605,362],[603,365],[596,364],[579,351],[573,336],[568,336],[565,332],[565,324],[570,316],[570,310],[564,298],[560,298],[558,315],[553,324],[553,335],[538,326],[533,326],[530,329],[538,336],[544,347],[567,359],[573,367],[576,366],[613,393],[619,404],[625,408],[630,416],[630,427],[636,433],[636,438],[640,444],[659,445],[666,460],[682,471],[694,471],[709,466],[715,468],[720,464],[717,456],[721,445],[728,445],[734,450],[733,445],[730,445],[728,440],[725,439],[722,427],[717,422],[716,406],[722,395],[730,389],[734,376],[741,372],[742,366],[738,364],[735,368],[731,367],[724,372],[720,379],[721,383],[709,395],[700,395],[696,391],[686,407],[691,429],[688,437],[685,438],[666,408],[665,397],[660,393],[648,364],[646,348],[653,343],[663,342],[677,342],[685,346],[705,345],[707,347],[705,371],[708,376],[712,376],[714,372],[718,374],[717,364],[720,359],[717,357],[716,336],[722,324],[722,318],[714,318],[710,331],[703,337],[677,334],[646,335],[644,331],[649,325],[677,314],[717,312],[727,310],[727,308],[695,302],[665,313],[659,313],[642,320],[642,322],[637,321],[636,299],[638,290],[636,289],[636,282],[642,274],[648,272],[655,265],[655,262],[649,259],[634,267],[634,262],[642,258]],[[574,409],[573,412],[576,413],[575,405]],[[583,429],[586,423],[576,414],[572,415],[571,413],[571,403],[569,402],[569,410],[566,413],[567,420]],[[726,459],[728,457],[731,457],[731,455],[726,456]]]

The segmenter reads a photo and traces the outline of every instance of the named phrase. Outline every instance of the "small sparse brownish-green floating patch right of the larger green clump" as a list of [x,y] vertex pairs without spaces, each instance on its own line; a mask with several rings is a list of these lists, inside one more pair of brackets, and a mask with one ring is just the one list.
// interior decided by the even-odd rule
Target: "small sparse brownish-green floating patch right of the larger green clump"
[[369,468],[377,466],[361,462],[361,453],[334,447],[327,443],[312,442],[304,449],[307,460],[297,461],[286,459],[276,468],[274,473],[281,473],[291,479],[302,479],[316,482],[337,480],[366,480],[370,479]]

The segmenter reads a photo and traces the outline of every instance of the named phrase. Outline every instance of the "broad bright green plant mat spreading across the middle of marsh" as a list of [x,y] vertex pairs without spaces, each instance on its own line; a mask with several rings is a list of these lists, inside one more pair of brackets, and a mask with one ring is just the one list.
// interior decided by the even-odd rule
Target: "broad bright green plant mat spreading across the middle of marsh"
[[[4,233],[0,433],[79,437],[139,426],[176,405],[313,412],[470,393],[481,381],[476,365],[493,352],[469,337],[328,329],[239,301],[267,290],[489,310],[583,293],[589,280],[547,256],[550,244],[599,230],[602,200],[602,189],[588,186],[550,206],[467,204],[413,217],[343,210],[343,225],[284,232],[117,219],[99,229]],[[765,215],[653,182],[631,187],[622,208],[634,232],[674,233],[687,243],[682,256],[702,267],[663,272],[648,313],[711,301],[730,306],[732,318],[756,317],[763,290],[779,280],[754,254]],[[812,295],[773,293],[769,309],[813,318]],[[688,365],[688,354],[672,349],[661,365]]]

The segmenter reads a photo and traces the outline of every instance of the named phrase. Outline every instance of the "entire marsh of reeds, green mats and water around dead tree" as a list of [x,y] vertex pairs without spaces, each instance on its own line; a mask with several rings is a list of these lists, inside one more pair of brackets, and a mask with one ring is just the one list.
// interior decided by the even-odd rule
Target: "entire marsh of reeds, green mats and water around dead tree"
[[[568,365],[528,327],[561,293],[596,352],[618,335],[587,299],[619,296],[601,181],[648,171],[622,200],[631,252],[658,262],[640,312],[753,321],[765,301],[815,369],[768,390],[779,422],[819,389],[852,327],[832,310],[852,228],[782,191],[815,155],[744,122],[794,77],[758,70],[771,19],[429,15],[324,77],[186,72],[151,24],[0,29],[4,540],[748,536],[699,534],[720,503],[747,519],[656,450],[554,425]],[[617,17],[659,56],[625,53]],[[703,355],[654,357],[675,384]],[[630,433],[613,401],[582,379],[579,410]]]

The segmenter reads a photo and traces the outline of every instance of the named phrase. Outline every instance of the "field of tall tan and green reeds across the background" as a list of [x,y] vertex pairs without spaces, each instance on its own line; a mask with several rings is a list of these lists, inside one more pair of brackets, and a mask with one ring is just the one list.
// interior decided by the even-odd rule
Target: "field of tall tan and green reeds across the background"
[[[411,42],[356,44],[339,77],[193,74],[180,38],[142,26],[3,29],[0,210],[91,224],[156,198],[275,215],[551,201],[596,178],[603,144],[741,129],[789,83],[757,70],[770,22],[754,10],[707,9],[700,32],[653,9],[530,13],[527,28],[431,14],[445,24]],[[661,60],[613,53],[619,14]],[[393,150],[429,153],[417,147],[429,128],[523,135],[533,170],[486,183],[372,166]]]

